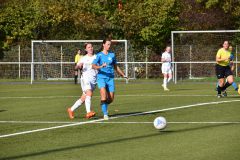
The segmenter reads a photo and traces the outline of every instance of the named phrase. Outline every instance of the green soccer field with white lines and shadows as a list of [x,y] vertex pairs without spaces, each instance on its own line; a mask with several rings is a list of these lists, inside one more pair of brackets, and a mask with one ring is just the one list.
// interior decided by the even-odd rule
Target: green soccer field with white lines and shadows
[[[70,120],[66,109],[80,86],[0,84],[0,160],[237,160],[240,96],[232,87],[218,99],[213,82],[180,82],[164,92],[162,80],[116,83],[102,119],[99,90],[86,120],[85,106]],[[163,116],[164,130],[153,127]]]

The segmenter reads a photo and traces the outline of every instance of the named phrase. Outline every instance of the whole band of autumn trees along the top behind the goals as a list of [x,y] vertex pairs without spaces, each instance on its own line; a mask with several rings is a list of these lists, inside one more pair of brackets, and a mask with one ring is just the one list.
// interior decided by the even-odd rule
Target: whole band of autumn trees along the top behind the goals
[[156,53],[172,30],[240,27],[238,0],[0,0],[0,57],[31,39],[127,39]]

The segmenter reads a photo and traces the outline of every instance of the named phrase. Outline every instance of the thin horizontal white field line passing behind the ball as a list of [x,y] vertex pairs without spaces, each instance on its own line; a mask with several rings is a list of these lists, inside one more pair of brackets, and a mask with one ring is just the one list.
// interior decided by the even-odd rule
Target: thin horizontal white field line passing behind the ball
[[[0,121],[0,123],[13,123],[13,124],[75,124],[79,122],[60,122],[60,121]],[[240,124],[240,122],[167,122],[168,124]],[[92,122],[92,124],[153,124],[153,122]]]

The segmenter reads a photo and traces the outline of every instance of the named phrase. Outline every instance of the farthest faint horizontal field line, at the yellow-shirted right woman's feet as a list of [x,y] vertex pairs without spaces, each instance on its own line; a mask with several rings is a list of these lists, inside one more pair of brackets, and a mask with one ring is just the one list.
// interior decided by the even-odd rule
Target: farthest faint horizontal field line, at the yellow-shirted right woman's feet
[[[24,96],[24,97],[0,97],[0,99],[54,99],[54,98],[76,98],[79,96]],[[94,96],[100,97],[100,96]],[[216,97],[216,95],[200,95],[200,94],[131,94],[116,95],[116,97]],[[239,95],[228,95],[228,97],[239,97]]]

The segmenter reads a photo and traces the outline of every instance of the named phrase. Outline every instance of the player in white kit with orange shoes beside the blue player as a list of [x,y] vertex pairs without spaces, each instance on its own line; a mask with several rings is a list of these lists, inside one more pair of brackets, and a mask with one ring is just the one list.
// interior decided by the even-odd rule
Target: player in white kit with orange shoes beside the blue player
[[77,66],[82,69],[81,87],[83,94],[71,108],[67,109],[70,119],[74,118],[74,110],[80,107],[84,102],[87,112],[86,118],[91,118],[96,114],[94,111],[91,111],[91,98],[96,86],[97,79],[97,70],[92,68],[92,62],[96,56],[93,54],[93,46],[91,43],[85,43],[84,47],[87,54],[83,56],[80,62],[77,64]]

